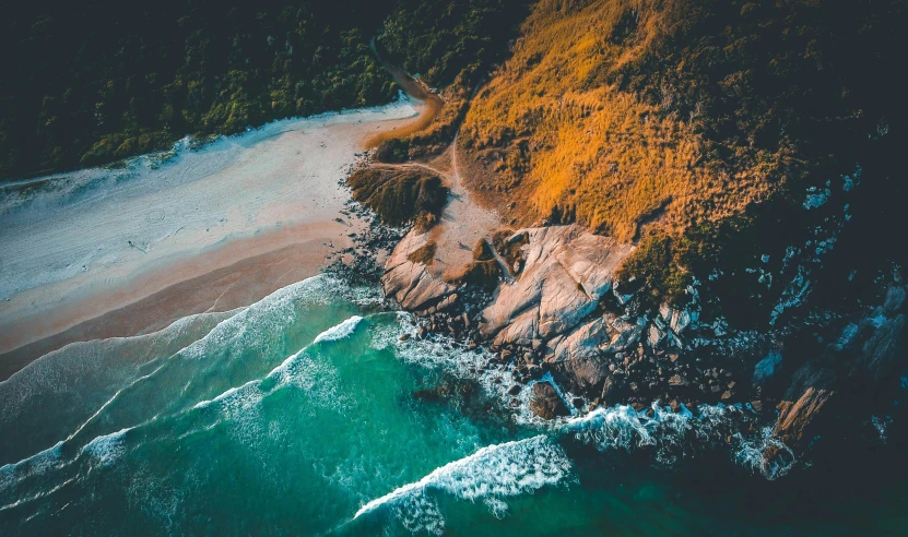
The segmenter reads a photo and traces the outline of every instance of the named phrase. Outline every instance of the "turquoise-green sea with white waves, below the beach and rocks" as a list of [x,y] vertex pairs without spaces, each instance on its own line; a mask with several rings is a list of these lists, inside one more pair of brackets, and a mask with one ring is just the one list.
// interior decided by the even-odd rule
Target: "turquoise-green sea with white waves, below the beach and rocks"
[[[905,492],[791,515],[759,417],[629,408],[544,423],[482,351],[329,276],[0,383],[0,535],[894,532]],[[439,401],[413,392],[448,386]],[[798,462],[793,461],[797,467]],[[770,480],[771,477],[779,479]],[[788,496],[787,496],[788,494]],[[782,501],[769,502],[767,497]],[[823,503],[826,502],[826,503]]]

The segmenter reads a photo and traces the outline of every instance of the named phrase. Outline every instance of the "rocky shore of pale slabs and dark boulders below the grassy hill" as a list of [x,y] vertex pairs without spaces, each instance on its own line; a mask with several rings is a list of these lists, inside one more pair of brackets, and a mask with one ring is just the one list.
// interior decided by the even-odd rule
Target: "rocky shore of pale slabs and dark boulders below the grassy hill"
[[[685,309],[641,310],[640,297],[623,294],[614,276],[634,247],[579,226],[518,229],[486,241],[502,271],[485,286],[428,270],[432,261],[414,252],[431,241],[431,232],[411,230],[397,243],[379,271],[386,295],[423,320],[421,337],[444,334],[487,347],[493,358],[484,369],[516,371],[544,419],[616,404],[644,410],[659,402],[694,413],[700,404],[742,405],[775,421],[774,437],[800,455],[833,420],[845,431],[865,427],[869,415],[842,411],[856,403],[885,414],[906,382],[908,293],[898,273],[883,305],[854,318],[830,317],[826,338],[805,342],[792,331],[705,322],[693,287]],[[778,448],[768,448],[767,463],[776,456]]]

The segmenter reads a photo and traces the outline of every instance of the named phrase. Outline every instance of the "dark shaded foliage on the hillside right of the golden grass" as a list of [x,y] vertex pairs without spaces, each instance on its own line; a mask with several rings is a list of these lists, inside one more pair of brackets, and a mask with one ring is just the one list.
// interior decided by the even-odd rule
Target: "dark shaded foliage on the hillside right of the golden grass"
[[[854,307],[873,281],[904,266],[906,252],[888,231],[908,203],[898,150],[908,141],[908,107],[894,79],[904,70],[906,21],[901,0],[679,3],[658,49],[603,82],[689,118],[707,143],[700,165],[732,177],[765,174],[778,187],[730,219],[645,241],[625,277],[684,301],[692,277],[676,277],[681,267],[704,279],[717,312],[752,325],[769,319],[754,313],[777,305],[803,268],[824,306]],[[845,191],[841,176],[859,166],[860,186]],[[811,188],[833,195],[805,211]],[[837,227],[830,253],[812,254],[829,235],[821,230]],[[790,247],[801,253],[783,263]],[[775,282],[759,282],[762,270]],[[706,281],[714,271],[722,276]]]

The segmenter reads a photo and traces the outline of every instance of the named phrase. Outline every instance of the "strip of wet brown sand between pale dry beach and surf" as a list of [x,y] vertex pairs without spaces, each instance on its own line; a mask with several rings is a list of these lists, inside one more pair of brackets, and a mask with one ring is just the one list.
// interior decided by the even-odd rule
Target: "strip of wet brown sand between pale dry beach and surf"
[[165,262],[52,315],[21,319],[11,332],[30,341],[0,354],[0,382],[71,343],[148,334],[187,315],[249,306],[318,274],[333,253],[351,246],[346,232],[362,228],[329,222],[235,239]]

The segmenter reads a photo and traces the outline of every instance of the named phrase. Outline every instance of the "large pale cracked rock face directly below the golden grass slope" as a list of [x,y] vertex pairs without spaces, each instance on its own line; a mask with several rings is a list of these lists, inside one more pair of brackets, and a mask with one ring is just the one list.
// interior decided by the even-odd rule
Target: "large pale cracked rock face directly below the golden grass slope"
[[521,273],[483,311],[481,331],[498,345],[530,345],[573,331],[612,289],[615,268],[634,251],[579,226],[521,232],[529,236]]

